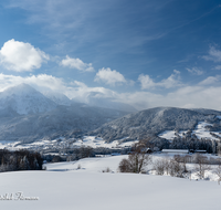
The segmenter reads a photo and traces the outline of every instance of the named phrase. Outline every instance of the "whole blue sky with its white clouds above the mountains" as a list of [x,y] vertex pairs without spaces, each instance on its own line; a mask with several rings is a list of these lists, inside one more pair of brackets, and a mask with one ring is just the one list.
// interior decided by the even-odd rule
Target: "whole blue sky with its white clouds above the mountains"
[[218,0],[9,0],[0,27],[2,91],[221,109]]

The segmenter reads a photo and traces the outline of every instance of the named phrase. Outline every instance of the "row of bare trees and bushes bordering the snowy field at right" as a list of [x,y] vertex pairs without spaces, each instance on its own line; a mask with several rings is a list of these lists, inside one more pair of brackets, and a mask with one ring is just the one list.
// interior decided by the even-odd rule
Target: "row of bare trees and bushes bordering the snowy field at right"
[[[131,153],[128,155],[128,158],[124,158],[119,162],[119,171],[139,174],[146,171],[146,167],[152,164],[152,169],[155,170],[156,175],[168,175],[180,178],[188,177],[191,179],[191,174],[194,172],[197,174],[199,179],[204,179],[206,171],[211,169],[211,165],[215,164],[215,167],[213,167],[213,171],[221,181],[220,158],[208,159],[207,156],[203,156],[201,154],[196,154],[193,157],[189,155],[175,155],[172,158],[164,157],[152,162],[151,156],[146,151],[147,143],[139,141],[135,144]],[[190,162],[193,164],[193,167],[188,168],[187,164]]]

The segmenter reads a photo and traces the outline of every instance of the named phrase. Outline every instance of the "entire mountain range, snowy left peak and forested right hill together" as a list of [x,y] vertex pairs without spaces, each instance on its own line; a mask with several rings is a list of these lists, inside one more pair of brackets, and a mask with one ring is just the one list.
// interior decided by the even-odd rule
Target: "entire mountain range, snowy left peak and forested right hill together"
[[[112,103],[108,105],[112,107]],[[0,140],[32,143],[88,135],[106,143],[134,141],[167,130],[193,130],[200,122],[209,123],[209,130],[219,132],[220,116],[219,111],[175,107],[128,113],[76,103],[61,93],[40,93],[21,84],[0,93]]]

